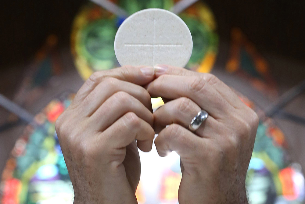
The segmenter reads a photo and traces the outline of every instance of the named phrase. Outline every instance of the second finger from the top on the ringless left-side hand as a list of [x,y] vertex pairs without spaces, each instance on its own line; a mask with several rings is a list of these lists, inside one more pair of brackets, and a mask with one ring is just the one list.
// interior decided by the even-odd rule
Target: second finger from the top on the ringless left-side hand
[[145,88],[127,81],[109,77],[99,83],[81,103],[83,113],[91,116],[111,95],[118,91],[124,91],[142,102],[147,109],[152,111],[152,103],[149,93]]

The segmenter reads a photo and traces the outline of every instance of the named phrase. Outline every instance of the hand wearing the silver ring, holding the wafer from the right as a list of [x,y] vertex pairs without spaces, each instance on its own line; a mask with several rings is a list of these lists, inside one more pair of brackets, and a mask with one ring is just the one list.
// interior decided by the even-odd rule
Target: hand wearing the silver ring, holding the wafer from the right
[[[247,203],[257,114],[212,74],[164,65],[155,74],[149,94],[169,100],[153,114],[155,145],[160,156],[171,150],[181,156],[179,203]],[[209,116],[191,132],[188,125],[201,109]]]

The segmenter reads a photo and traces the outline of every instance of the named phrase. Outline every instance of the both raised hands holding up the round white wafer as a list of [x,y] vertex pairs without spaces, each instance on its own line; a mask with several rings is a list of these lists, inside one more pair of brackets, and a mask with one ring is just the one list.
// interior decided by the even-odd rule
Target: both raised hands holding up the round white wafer
[[[143,88],[145,87],[145,88]],[[152,113],[151,97],[164,106]],[[201,110],[209,117],[188,130]],[[256,113],[212,74],[160,65],[94,73],[56,121],[74,204],[137,203],[138,149],[181,156],[179,203],[247,203]],[[167,127],[167,125],[169,125]]]

